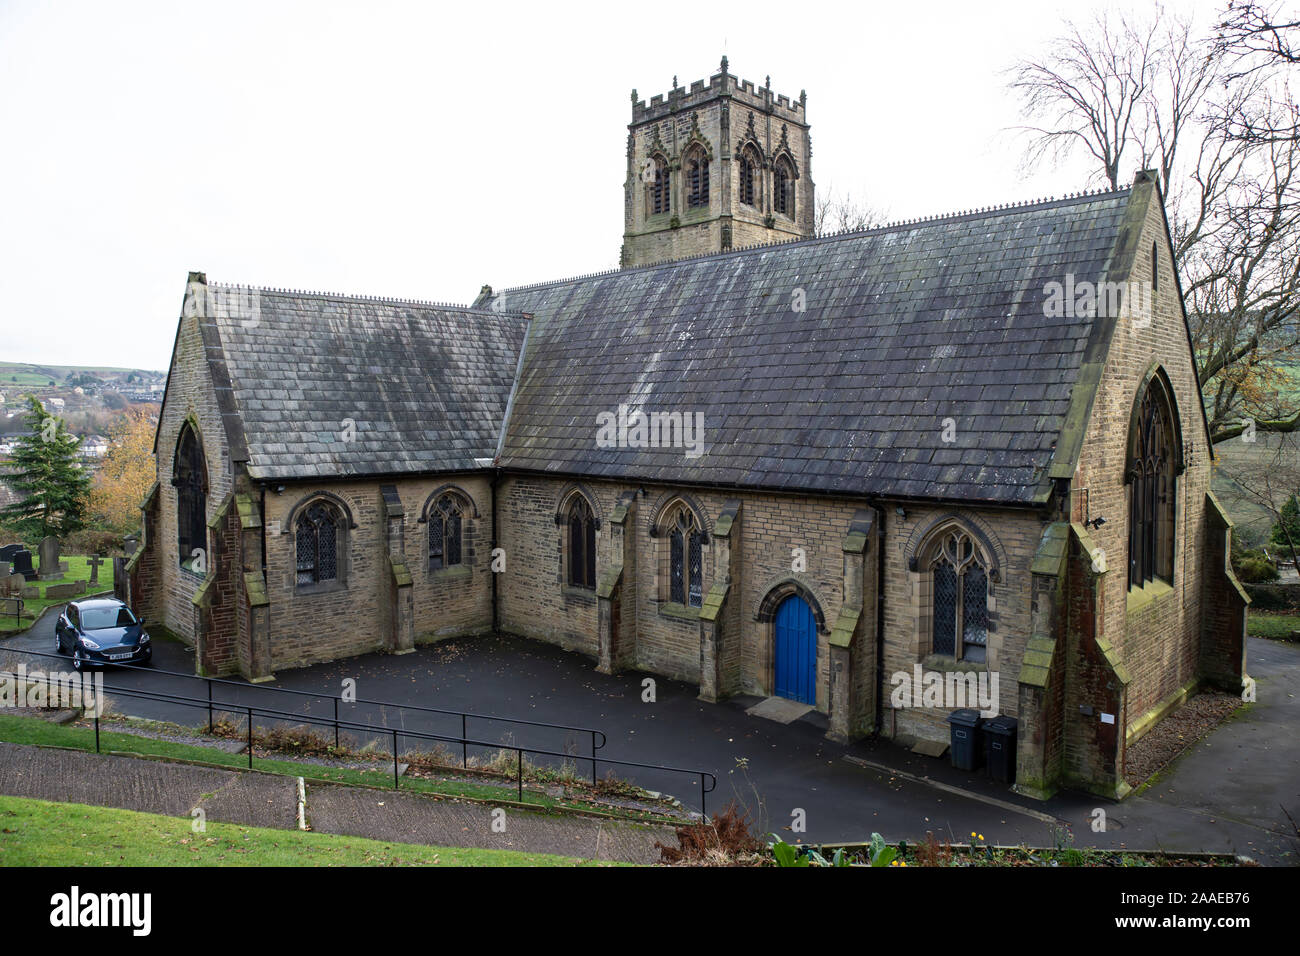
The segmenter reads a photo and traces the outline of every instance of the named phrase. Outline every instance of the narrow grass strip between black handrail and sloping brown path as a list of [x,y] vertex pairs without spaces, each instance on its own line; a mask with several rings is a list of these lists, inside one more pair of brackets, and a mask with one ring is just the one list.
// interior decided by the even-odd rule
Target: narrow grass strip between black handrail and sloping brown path
[[[155,740],[152,737],[138,736],[135,734],[122,734],[110,730],[112,723],[100,723],[100,749],[120,750],[124,753],[142,753],[169,760],[200,761],[216,763],[233,769],[247,769],[248,757],[243,753],[226,753],[213,747],[196,744],[178,744],[170,740]],[[70,727],[66,724],[51,723],[39,717],[14,717],[0,714],[0,740],[12,744],[35,744],[46,747],[68,747],[78,750],[95,749],[94,727]],[[393,787],[393,762],[377,761],[374,770],[354,770],[351,767],[330,767],[318,763],[300,763],[292,760],[268,760],[254,757],[254,769],[287,777],[302,777],[307,780],[324,780],[329,783],[343,783],[361,787]],[[454,773],[454,771],[448,771]],[[439,796],[473,797],[477,800],[508,800],[519,803],[519,792],[514,784],[471,783],[463,780],[424,779],[417,777],[402,778],[403,791],[420,793],[437,793]],[[538,793],[524,784],[525,804],[532,804],[542,809],[575,808],[584,809],[576,800],[558,800],[546,793]],[[655,821],[655,814],[628,812],[620,814],[627,819]]]

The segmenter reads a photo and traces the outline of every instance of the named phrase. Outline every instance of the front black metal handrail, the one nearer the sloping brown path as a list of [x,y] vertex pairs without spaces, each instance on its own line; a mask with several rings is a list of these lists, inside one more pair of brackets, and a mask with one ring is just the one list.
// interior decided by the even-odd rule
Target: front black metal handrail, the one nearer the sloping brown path
[[[39,652],[39,650],[30,650],[30,652],[29,650],[22,650],[22,652],[18,652],[18,653],[30,653],[30,654],[36,654],[39,657],[57,657],[56,654],[47,654],[47,653]],[[0,671],[0,676],[12,676],[14,679],[18,679],[17,674],[6,672],[6,671]],[[266,688],[266,689],[278,689],[278,688]],[[113,693],[121,695],[124,697],[135,697],[135,698],[139,698],[139,700],[165,701],[165,702],[182,704],[182,705],[188,705],[188,706],[209,708],[209,714],[211,714],[212,701],[211,700],[204,700],[202,697],[190,697],[188,695],[168,693],[166,691],[131,689],[131,688],[107,687],[107,685],[103,688],[103,691],[104,692],[112,691]],[[99,701],[96,701],[96,708],[95,708],[95,753],[100,753],[100,736],[99,736],[99,710],[100,710],[100,708],[98,706],[98,704],[99,704]],[[481,747],[481,748],[485,748],[485,749],[498,749],[498,750],[514,750],[515,754],[516,754],[517,762],[519,762],[519,791],[517,792],[519,792],[519,800],[520,801],[523,801],[523,799],[524,799],[524,754],[525,753],[530,754],[530,756],[537,756],[537,757],[559,757],[560,760],[566,760],[566,761],[584,761],[584,762],[585,761],[592,761],[592,786],[595,786],[598,783],[598,775],[597,775],[597,765],[598,763],[608,763],[608,765],[614,765],[614,766],[634,767],[637,770],[655,770],[655,771],[670,773],[670,774],[685,774],[685,775],[689,775],[689,777],[693,777],[693,778],[698,777],[699,778],[699,813],[701,813],[701,816],[707,816],[707,795],[712,793],[714,790],[718,787],[718,778],[712,773],[710,773],[707,770],[693,770],[693,769],[688,769],[688,767],[673,767],[673,766],[664,766],[662,763],[641,763],[638,761],[615,760],[612,757],[598,757],[594,750],[592,752],[590,757],[584,757],[584,756],[573,754],[573,753],[562,753],[559,750],[545,750],[545,749],[536,748],[536,747],[520,747],[517,744],[502,744],[499,741],[477,740],[477,739],[467,737],[467,736],[459,736],[459,737],[456,737],[456,736],[450,736],[450,735],[446,735],[446,734],[430,734],[430,732],[426,732],[426,731],[396,730],[396,728],[390,728],[390,727],[376,727],[374,724],[369,724],[369,723],[361,723],[361,722],[356,722],[356,721],[339,721],[337,718],[334,718],[333,721],[332,719],[325,719],[325,718],[313,718],[313,717],[299,714],[299,713],[294,713],[294,711],[273,710],[270,708],[255,708],[255,706],[247,705],[247,704],[244,704],[244,705],[240,705],[240,704],[226,704],[224,709],[231,710],[231,711],[240,711],[242,710],[247,715],[247,719],[248,719],[247,749],[248,749],[248,769],[250,770],[254,769],[254,766],[252,766],[252,761],[254,761],[254,753],[252,753],[252,743],[254,743],[252,741],[252,728],[254,728],[254,724],[252,724],[252,718],[256,715],[256,717],[274,717],[274,718],[290,719],[290,721],[294,721],[296,723],[315,723],[315,724],[324,724],[324,726],[332,726],[333,724],[334,728],[335,728],[335,734],[337,734],[338,728],[342,727],[342,728],[346,728],[346,730],[354,730],[354,731],[359,731],[359,732],[369,732],[369,734],[377,734],[377,735],[391,735],[393,736],[393,788],[394,790],[400,790],[402,788],[400,774],[399,774],[399,763],[398,763],[398,760],[399,760],[399,756],[400,756],[399,752],[398,752],[398,736],[399,735],[403,736],[403,737],[416,737],[417,740],[434,740],[434,741],[438,741],[438,743],[460,744],[462,745],[462,753],[463,753],[463,757],[462,757],[463,763],[462,763],[462,766],[464,766],[467,769],[468,769],[468,750],[469,750],[471,747]],[[211,717],[209,717],[209,721],[211,721]],[[211,727],[211,724],[209,724],[209,727]]]

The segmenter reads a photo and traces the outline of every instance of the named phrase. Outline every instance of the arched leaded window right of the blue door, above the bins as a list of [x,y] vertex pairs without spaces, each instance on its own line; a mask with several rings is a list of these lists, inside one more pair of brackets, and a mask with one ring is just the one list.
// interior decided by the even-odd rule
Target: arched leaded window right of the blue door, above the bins
[[944,532],[930,564],[932,652],[984,661],[988,648],[988,568],[970,535]]

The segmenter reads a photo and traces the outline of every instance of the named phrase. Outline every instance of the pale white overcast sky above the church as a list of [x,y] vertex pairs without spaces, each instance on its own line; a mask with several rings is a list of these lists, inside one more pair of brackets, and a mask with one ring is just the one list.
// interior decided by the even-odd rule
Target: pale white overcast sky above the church
[[1076,191],[1019,169],[1005,70],[1097,7],[0,0],[0,360],[166,368],[191,269],[469,302],[612,268],[630,91],[724,52],[807,91],[819,191]]

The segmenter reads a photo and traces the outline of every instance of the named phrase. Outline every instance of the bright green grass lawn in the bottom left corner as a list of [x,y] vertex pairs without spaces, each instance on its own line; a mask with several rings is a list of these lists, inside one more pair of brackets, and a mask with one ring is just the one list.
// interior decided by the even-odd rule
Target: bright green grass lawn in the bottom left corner
[[0,866],[589,866],[547,853],[417,847],[0,796]]

